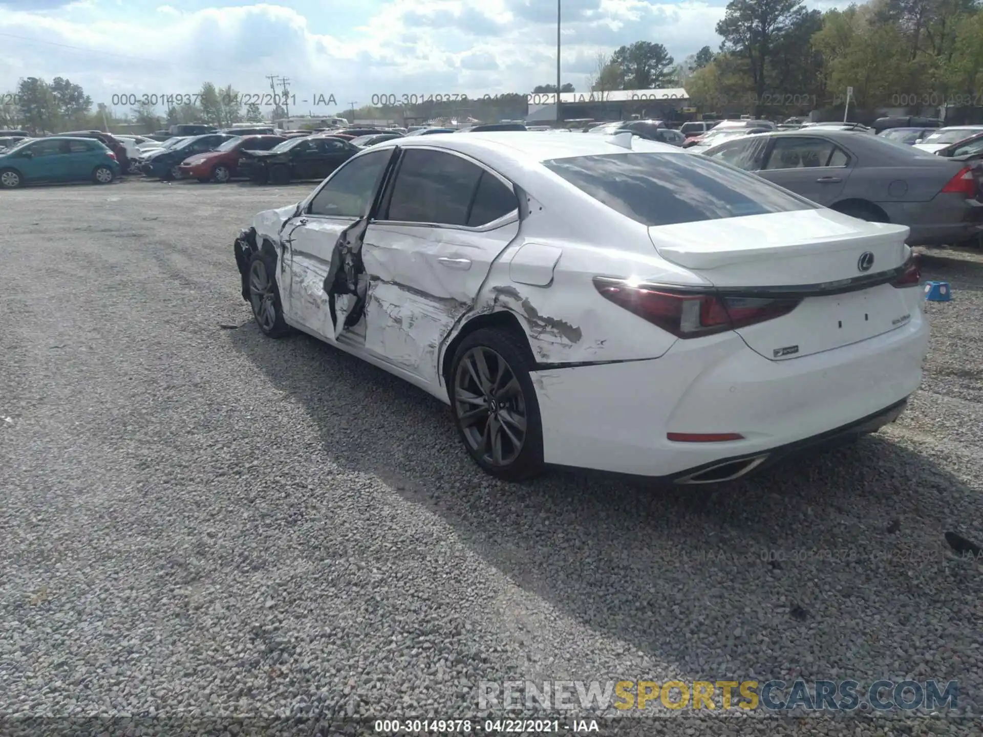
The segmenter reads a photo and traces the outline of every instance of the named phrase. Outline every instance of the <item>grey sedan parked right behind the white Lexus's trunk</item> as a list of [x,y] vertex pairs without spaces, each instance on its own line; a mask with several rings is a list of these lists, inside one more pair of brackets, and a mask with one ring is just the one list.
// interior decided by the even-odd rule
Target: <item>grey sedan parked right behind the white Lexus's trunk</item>
[[909,246],[967,242],[983,230],[983,172],[880,136],[809,128],[723,142],[703,155],[838,212],[906,225]]

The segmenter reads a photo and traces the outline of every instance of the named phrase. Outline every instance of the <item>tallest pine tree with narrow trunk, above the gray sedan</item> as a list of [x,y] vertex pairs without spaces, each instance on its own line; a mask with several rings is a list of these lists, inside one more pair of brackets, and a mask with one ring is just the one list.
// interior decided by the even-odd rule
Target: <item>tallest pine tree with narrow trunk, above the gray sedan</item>
[[769,62],[785,31],[802,13],[802,0],[730,0],[717,32],[722,51],[743,57],[754,92],[754,114],[760,115],[768,87]]

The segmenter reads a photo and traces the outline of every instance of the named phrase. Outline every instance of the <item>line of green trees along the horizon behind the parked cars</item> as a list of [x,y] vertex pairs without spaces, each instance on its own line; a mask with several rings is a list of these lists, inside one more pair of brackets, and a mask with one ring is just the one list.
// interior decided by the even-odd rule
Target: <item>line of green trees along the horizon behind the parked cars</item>
[[[684,87],[702,113],[800,115],[814,109],[842,115],[847,87],[851,111],[906,108],[912,114],[948,105],[947,118],[983,119],[983,0],[870,0],[845,10],[809,10],[802,0],[731,0],[717,25],[717,51],[704,46],[676,63],[662,43],[639,40],[611,54],[599,53],[590,90]],[[538,85],[534,93],[554,92]],[[286,91],[286,90],[284,90]],[[560,91],[576,91],[562,85]],[[217,127],[260,122],[259,105],[240,104],[232,85],[204,83],[193,101],[166,105],[166,112],[138,104],[117,116],[94,109],[80,86],[56,77],[30,77],[0,94],[0,128],[33,133],[137,123],[145,132],[180,123]],[[453,103],[428,101],[407,109],[363,106],[325,112],[354,119],[422,121],[473,117],[521,118],[525,93]],[[975,113],[974,113],[975,111]],[[318,111],[320,112],[320,111]],[[285,117],[277,107],[271,118]],[[409,121],[408,121],[409,122]]]

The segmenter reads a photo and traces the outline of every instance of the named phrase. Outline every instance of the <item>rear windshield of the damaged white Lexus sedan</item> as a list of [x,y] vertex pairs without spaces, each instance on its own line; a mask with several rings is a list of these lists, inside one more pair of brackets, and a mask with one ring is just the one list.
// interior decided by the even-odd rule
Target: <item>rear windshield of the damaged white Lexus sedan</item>
[[543,163],[592,198],[647,226],[819,207],[698,154],[609,153]]

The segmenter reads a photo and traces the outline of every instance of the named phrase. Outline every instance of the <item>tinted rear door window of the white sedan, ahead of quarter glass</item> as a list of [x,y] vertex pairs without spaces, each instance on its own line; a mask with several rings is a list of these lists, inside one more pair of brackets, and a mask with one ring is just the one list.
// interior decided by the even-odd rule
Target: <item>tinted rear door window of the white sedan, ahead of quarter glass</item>
[[403,153],[384,219],[466,226],[484,173],[452,153],[409,148]]

